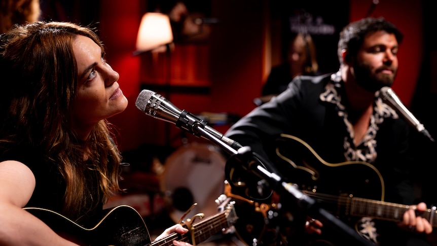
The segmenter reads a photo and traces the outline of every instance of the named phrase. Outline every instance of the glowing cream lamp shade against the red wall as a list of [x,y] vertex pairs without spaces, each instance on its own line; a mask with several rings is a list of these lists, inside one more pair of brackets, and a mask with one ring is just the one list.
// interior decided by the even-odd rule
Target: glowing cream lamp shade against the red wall
[[145,13],[139,25],[136,52],[155,50],[173,42],[170,19],[162,13]]

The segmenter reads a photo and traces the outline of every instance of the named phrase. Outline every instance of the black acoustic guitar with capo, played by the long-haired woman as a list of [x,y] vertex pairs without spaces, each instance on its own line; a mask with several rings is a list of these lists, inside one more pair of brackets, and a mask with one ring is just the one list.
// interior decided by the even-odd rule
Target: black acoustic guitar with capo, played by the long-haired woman
[[[237,220],[234,203],[229,198],[224,203],[226,205],[222,206],[222,211],[215,215],[194,224],[192,224],[194,219],[187,220],[183,226],[189,229],[188,233],[184,235],[173,233],[154,242],[151,241],[149,231],[141,216],[128,205],[107,209],[107,214],[95,226],[89,228],[83,227],[52,210],[37,207],[24,209],[41,219],[62,237],[80,245],[166,246],[173,245],[173,240],[196,245],[232,226]],[[203,214],[198,215],[198,217],[203,218]]]

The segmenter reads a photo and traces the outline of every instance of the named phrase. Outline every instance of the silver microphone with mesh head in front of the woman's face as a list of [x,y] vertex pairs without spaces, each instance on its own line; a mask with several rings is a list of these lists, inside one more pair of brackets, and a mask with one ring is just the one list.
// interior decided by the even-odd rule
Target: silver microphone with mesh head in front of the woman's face
[[136,99],[135,106],[145,114],[173,123],[180,129],[186,130],[195,136],[208,139],[208,136],[203,135],[203,131],[198,129],[202,128],[234,149],[242,147],[236,141],[206,125],[206,121],[197,118],[185,110],[179,110],[173,103],[154,91],[142,90]]

